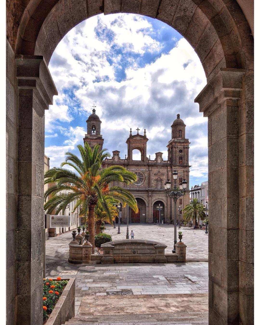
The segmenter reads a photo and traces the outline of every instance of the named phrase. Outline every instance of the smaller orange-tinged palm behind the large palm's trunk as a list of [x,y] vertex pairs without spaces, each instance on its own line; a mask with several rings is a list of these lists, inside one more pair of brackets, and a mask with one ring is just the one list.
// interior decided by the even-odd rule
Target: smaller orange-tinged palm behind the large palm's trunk
[[95,223],[96,223],[96,234],[100,233],[100,226],[102,221],[107,221],[110,224],[113,224],[113,219],[118,215],[117,208],[113,205],[117,203],[113,198],[108,196],[107,198],[104,198],[104,200],[107,201],[107,206],[110,209],[110,214],[107,214],[107,212],[104,210],[103,205],[98,201],[98,204],[95,207]]

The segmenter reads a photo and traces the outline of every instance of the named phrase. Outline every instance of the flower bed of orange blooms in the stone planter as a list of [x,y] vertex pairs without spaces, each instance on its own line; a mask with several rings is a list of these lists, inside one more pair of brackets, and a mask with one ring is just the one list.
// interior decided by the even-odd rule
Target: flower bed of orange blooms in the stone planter
[[47,321],[68,280],[43,279],[43,323]]

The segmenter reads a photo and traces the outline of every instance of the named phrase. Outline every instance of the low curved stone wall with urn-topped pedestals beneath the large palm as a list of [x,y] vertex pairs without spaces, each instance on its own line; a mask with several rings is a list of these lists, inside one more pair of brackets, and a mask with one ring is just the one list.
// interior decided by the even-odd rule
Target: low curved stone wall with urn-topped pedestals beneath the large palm
[[[143,239],[114,240],[102,244],[103,254],[91,254],[92,245],[80,238],[69,244],[69,262],[74,264],[176,263],[186,261],[186,245],[176,243],[176,253],[165,254],[165,244]],[[81,241],[82,242],[82,241]]]

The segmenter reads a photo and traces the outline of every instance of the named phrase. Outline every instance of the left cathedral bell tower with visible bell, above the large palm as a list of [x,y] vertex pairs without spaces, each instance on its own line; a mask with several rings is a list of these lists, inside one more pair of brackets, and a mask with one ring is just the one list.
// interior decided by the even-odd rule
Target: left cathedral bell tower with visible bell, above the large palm
[[87,122],[87,134],[85,134],[85,138],[83,138],[84,143],[87,142],[91,149],[95,147],[96,144],[99,144],[100,150],[103,148],[104,139],[101,132],[101,121],[96,114],[95,105],[92,106],[92,114],[89,115]]

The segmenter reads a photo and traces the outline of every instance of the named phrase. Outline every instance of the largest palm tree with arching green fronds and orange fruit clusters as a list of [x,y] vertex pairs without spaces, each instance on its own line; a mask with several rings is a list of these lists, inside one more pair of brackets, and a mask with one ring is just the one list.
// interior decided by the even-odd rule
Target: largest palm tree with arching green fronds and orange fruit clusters
[[[65,213],[67,204],[77,201],[75,209],[81,207],[81,215],[88,215],[88,230],[90,234],[90,243],[92,244],[92,253],[94,253],[94,235],[95,235],[95,216],[94,209],[100,201],[104,211],[111,215],[105,196],[110,195],[114,200],[121,201],[123,206],[126,204],[134,211],[138,211],[136,199],[124,188],[119,186],[109,187],[113,181],[119,181],[130,184],[136,181],[136,175],[123,166],[110,166],[102,169],[102,161],[110,157],[107,149],[99,150],[96,145],[92,150],[88,143],[85,142],[84,147],[78,145],[80,156],[76,156],[72,152],[66,152],[65,162],[61,163],[61,167],[54,167],[46,171],[45,184],[55,183],[45,192],[44,209],[50,213],[53,209],[56,214],[60,211]],[[62,168],[68,165],[71,169]],[[64,193],[64,191],[66,193]],[[46,202],[48,195],[53,197]],[[74,212],[73,211],[73,212]],[[72,213],[73,213],[72,212]]]

